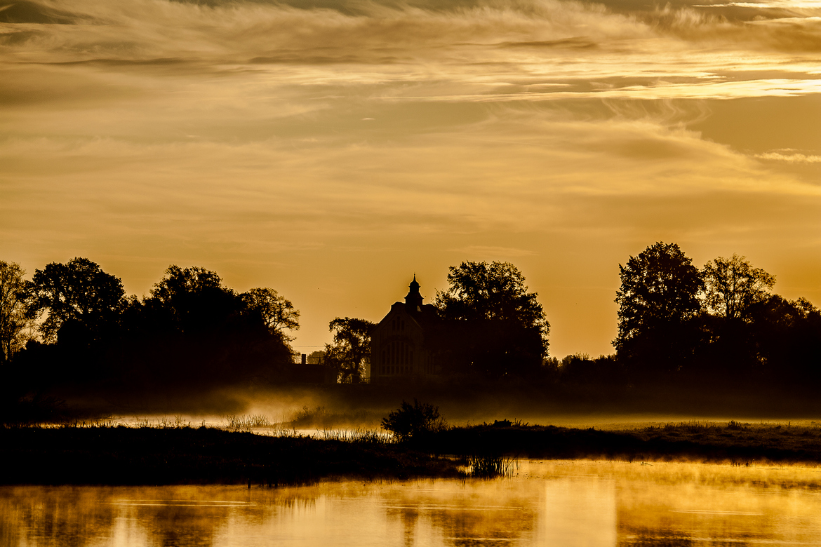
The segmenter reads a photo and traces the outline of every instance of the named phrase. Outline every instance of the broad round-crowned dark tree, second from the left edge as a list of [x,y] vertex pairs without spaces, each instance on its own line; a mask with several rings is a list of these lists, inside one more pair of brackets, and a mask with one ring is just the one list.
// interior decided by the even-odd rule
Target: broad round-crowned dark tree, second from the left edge
[[47,314],[39,326],[47,342],[56,341],[64,327],[72,340],[95,340],[126,305],[120,278],[88,258],[72,258],[65,264],[52,262],[43,270],[34,270],[29,291],[30,317]]

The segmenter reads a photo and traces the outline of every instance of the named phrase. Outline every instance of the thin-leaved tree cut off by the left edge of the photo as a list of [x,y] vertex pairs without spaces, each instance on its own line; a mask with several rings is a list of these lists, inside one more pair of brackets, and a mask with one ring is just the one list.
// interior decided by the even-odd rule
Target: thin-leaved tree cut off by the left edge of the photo
[[29,340],[27,328],[32,325],[26,316],[28,299],[25,270],[20,264],[0,260],[0,362],[7,362]]

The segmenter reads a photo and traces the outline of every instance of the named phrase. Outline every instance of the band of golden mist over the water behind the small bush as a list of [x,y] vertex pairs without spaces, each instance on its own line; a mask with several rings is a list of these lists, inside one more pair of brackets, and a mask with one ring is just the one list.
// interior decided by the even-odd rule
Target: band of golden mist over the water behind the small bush
[[[450,426],[470,426],[497,420],[521,425],[564,426],[625,431],[681,422],[791,424],[815,428],[821,413],[811,400],[787,396],[759,397],[756,393],[723,397],[659,390],[649,396],[621,394],[619,398],[586,394],[567,400],[554,394],[498,391],[454,393],[436,390],[396,390],[370,385],[282,387],[266,390],[225,390],[189,403],[186,399],[140,401],[108,409],[86,407],[89,425],[209,426],[252,430],[261,434],[296,430],[321,436],[323,431],[381,431],[382,420],[402,400],[432,403]],[[608,398],[609,397],[609,398]],[[82,407],[84,402],[78,403]],[[103,418],[101,418],[103,417]],[[83,422],[83,418],[80,418]],[[386,431],[382,431],[387,433]]]

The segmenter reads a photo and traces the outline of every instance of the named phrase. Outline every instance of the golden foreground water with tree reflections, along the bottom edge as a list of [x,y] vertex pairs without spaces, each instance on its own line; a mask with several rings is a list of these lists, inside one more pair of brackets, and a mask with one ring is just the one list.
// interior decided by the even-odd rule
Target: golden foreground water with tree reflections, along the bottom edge
[[821,545],[821,472],[521,463],[495,481],[0,488],[2,545]]

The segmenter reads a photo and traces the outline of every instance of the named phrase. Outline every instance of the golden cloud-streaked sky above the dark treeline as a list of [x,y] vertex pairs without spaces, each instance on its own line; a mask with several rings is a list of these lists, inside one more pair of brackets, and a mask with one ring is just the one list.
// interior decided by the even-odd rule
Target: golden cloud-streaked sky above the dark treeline
[[821,0],[0,0],[0,260],[170,265],[379,321],[512,262],[612,353],[619,264],[821,306]]

